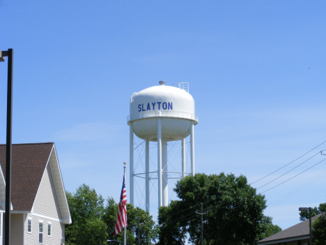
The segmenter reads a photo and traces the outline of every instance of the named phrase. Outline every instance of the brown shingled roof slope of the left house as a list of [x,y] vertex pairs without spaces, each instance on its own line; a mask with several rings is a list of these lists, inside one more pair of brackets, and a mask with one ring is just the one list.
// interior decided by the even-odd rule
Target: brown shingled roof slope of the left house
[[[31,211],[53,147],[53,142],[13,144],[11,162],[13,211]],[[0,144],[0,163],[3,176],[6,178],[6,144]]]

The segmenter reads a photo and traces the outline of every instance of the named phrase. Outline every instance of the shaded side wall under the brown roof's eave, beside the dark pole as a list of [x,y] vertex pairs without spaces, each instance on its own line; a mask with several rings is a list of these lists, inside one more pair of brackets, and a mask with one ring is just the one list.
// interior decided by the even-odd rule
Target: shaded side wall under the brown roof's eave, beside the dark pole
[[24,244],[24,214],[11,214],[10,245]]

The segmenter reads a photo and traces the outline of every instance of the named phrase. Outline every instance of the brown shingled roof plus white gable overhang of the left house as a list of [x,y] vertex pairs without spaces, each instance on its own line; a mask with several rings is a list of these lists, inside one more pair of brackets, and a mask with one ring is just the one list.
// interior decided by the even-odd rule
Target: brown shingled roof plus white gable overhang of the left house
[[[0,144],[0,164],[3,176],[6,176],[6,144]],[[65,188],[53,142],[13,144],[11,168],[13,214],[33,213],[33,205],[36,202],[36,195],[41,187],[41,180],[45,176],[45,172],[51,172],[51,175],[47,174],[48,184],[51,186],[52,183],[52,187],[54,185],[52,190],[55,190],[56,205],[59,203],[59,213],[61,214],[59,219],[61,219],[62,223],[71,223],[68,202],[65,197]],[[0,186],[0,188],[4,188],[4,186]],[[1,200],[1,202],[3,201]]]

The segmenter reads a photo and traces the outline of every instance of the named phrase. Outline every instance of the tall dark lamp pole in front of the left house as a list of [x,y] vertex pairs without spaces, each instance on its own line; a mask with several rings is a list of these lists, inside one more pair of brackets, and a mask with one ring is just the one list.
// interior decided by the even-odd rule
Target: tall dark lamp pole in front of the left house
[[11,126],[13,119],[13,49],[0,50],[0,61],[8,57],[8,87],[7,87],[7,142],[6,142],[6,223],[5,245],[10,245],[10,204],[11,204]]

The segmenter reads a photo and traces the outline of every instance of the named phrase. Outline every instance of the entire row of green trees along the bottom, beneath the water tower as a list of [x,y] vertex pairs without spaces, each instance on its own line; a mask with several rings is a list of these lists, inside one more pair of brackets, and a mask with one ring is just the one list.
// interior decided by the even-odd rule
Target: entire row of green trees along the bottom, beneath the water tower
[[[186,234],[190,242],[199,244],[201,236],[201,211],[203,204],[204,244],[251,245],[281,228],[272,224],[272,218],[263,215],[265,197],[247,184],[240,175],[204,175],[180,179],[174,188],[180,200],[160,207],[156,225],[147,211],[127,203],[127,243],[184,244]],[[98,195],[93,188],[82,184],[76,193],[66,192],[72,224],[65,227],[65,244],[100,245],[107,239],[123,242],[121,232],[114,236],[118,203],[113,198]],[[140,237],[138,221],[140,223]],[[157,243],[157,238],[159,242]]]

